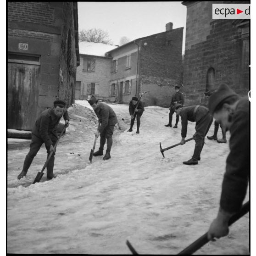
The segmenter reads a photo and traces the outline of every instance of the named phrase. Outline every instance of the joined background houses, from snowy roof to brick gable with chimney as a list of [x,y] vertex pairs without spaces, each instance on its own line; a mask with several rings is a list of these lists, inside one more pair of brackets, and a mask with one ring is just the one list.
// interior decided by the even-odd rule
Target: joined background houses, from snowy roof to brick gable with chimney
[[[182,83],[183,28],[139,38],[125,45],[79,43],[76,99],[95,94],[100,100],[129,103],[145,93],[145,106],[169,106],[174,86]],[[106,48],[108,48],[106,50]]]

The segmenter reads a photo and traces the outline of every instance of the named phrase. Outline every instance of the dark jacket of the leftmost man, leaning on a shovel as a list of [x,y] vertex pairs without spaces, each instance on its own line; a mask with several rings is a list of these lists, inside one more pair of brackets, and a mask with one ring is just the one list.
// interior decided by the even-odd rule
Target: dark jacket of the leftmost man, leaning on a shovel
[[[61,117],[57,117],[54,114],[54,107],[46,109],[36,120],[32,129],[32,134],[36,135],[40,139],[43,139],[46,146],[52,145],[53,143],[49,137],[49,134],[52,133],[57,137],[56,126],[59,124]],[[64,108],[63,118],[64,120],[69,120],[66,108]]]

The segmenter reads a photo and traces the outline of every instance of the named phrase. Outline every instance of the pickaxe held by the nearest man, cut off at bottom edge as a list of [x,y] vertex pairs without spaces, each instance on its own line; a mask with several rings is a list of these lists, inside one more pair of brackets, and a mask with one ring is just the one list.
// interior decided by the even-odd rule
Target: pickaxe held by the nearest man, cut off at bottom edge
[[[236,214],[234,214],[228,221],[228,226],[232,225],[233,223],[235,223],[237,220],[239,220],[239,218],[243,217],[248,211],[250,210],[250,201],[246,202],[241,210],[239,212],[237,212]],[[192,243],[191,245],[189,245],[188,247],[186,247],[184,250],[182,250],[181,252],[179,252],[177,255],[181,254],[181,255],[191,255],[193,254],[195,251],[197,251],[198,249],[200,249],[202,246],[206,245],[209,240],[207,238],[207,233],[202,235],[199,239],[195,240],[194,243]],[[126,240],[126,244],[128,245],[129,249],[131,250],[131,252],[133,254],[139,254],[137,253],[137,251],[134,249],[134,247],[130,244],[130,242],[128,240]]]

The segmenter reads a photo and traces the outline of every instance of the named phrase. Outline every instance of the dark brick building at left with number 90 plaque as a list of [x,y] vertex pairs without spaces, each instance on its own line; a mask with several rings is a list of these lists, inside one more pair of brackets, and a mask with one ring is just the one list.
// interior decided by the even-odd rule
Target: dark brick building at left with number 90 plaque
[[8,2],[8,128],[31,130],[39,113],[75,99],[77,2]]

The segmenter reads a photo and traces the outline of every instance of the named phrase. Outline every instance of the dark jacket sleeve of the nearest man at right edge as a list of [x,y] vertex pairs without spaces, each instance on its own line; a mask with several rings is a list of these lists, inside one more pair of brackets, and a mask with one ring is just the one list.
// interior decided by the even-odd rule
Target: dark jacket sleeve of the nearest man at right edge
[[250,172],[250,112],[247,97],[239,100],[230,127],[230,152],[226,161],[220,206],[225,211],[239,211],[245,199]]

